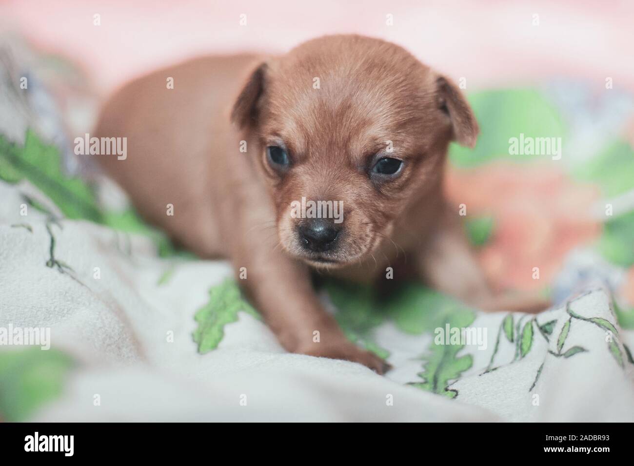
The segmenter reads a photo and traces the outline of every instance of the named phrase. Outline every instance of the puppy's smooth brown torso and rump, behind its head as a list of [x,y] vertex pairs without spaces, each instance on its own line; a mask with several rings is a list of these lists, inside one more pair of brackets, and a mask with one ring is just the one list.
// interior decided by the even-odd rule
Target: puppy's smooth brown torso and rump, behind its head
[[242,190],[257,185],[229,124],[232,99],[257,63],[250,55],[209,57],[154,72],[121,89],[96,129],[98,137],[127,137],[126,160],[99,160],[139,212],[203,257],[230,256]]

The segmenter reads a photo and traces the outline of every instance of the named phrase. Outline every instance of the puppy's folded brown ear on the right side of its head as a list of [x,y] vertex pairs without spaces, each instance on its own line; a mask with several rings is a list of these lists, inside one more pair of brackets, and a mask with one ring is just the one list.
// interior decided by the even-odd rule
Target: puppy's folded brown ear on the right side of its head
[[446,77],[436,79],[437,105],[451,119],[453,140],[473,148],[478,134],[477,121],[458,86]]

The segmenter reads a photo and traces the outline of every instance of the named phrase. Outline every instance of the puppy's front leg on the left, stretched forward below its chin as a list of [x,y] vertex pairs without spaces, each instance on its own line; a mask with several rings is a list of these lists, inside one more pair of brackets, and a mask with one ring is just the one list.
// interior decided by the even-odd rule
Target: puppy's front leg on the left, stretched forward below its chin
[[[285,349],[354,361],[380,374],[389,368],[383,359],[347,339],[332,315],[323,309],[306,266],[274,250],[244,251],[246,254],[234,260],[236,270],[247,268],[247,279],[239,282]],[[318,342],[314,341],[314,332],[319,332]]]

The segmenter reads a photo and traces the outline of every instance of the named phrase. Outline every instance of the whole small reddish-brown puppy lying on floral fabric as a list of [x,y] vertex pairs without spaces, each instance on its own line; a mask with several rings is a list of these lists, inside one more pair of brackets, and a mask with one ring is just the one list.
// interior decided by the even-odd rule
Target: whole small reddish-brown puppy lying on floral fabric
[[[100,157],[108,172],[174,240],[246,273],[240,283],[288,351],[382,373],[384,361],[323,309],[311,268],[367,282],[388,266],[398,275],[406,254],[421,280],[471,304],[545,306],[489,290],[444,200],[448,144],[474,146],[477,133],[458,88],[403,48],[330,36],[280,57],[200,58],[138,79],[93,136],[127,138],[126,160]],[[316,212],[311,201],[330,204]]]

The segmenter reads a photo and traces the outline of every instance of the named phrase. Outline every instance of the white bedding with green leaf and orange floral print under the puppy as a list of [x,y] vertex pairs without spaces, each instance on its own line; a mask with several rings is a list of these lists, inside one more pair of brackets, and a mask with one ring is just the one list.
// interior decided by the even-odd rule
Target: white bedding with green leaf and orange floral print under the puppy
[[[634,152],[614,136],[567,153],[585,102],[560,93],[470,95],[482,139],[452,149],[448,179],[489,279],[548,294],[552,309],[483,313],[418,283],[388,298],[323,283],[347,335],[394,366],[385,377],[284,351],[226,262],[174,249],[117,186],[69,171],[85,161],[7,99],[0,418],[632,420]],[[521,132],[565,134],[564,157],[508,153],[501,136]]]

